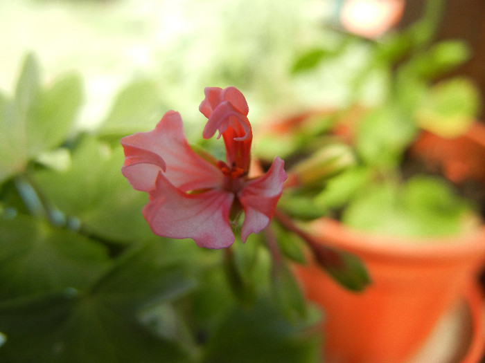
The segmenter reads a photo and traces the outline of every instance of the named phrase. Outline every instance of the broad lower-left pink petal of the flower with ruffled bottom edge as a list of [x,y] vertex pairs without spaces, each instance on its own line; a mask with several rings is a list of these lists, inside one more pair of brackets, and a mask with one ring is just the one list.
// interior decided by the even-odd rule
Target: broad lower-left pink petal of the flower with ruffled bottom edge
[[155,234],[191,238],[204,248],[226,248],[234,242],[229,223],[233,194],[220,189],[186,194],[170,184],[161,171],[149,194],[143,216]]

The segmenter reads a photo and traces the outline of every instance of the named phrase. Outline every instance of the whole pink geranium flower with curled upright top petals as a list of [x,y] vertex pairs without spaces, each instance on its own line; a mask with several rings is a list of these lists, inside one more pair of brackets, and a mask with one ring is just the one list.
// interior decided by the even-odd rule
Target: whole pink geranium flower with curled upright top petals
[[204,93],[199,110],[208,121],[202,136],[222,136],[225,162],[195,153],[179,113],[168,111],[155,130],[121,139],[121,171],[134,189],[148,192],[143,216],[155,234],[225,248],[235,240],[231,225],[242,212],[243,241],[267,227],[287,176],[276,157],[263,176],[249,178],[252,129],[245,97],[234,87],[208,87]]

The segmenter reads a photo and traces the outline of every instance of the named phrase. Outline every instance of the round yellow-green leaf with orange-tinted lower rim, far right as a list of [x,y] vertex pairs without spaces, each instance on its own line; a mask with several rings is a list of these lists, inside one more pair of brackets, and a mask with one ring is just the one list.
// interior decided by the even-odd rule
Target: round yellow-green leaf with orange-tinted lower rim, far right
[[418,124],[445,138],[464,133],[479,111],[479,91],[468,80],[455,77],[430,89],[416,111]]

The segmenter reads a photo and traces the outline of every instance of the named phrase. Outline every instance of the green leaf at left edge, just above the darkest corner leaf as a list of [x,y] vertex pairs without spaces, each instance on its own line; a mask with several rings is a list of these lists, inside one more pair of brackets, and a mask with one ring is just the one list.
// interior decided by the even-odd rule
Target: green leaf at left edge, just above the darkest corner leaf
[[83,289],[108,266],[94,241],[30,216],[0,218],[0,299]]

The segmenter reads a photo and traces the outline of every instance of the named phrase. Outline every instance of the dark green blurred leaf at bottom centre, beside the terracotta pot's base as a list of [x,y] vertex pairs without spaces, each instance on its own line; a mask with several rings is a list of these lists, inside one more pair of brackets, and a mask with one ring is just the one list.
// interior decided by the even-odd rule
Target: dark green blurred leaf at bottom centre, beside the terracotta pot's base
[[209,338],[204,363],[321,362],[319,313],[290,324],[269,299],[235,307]]

